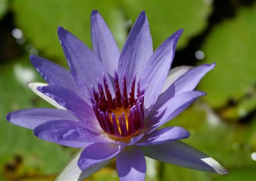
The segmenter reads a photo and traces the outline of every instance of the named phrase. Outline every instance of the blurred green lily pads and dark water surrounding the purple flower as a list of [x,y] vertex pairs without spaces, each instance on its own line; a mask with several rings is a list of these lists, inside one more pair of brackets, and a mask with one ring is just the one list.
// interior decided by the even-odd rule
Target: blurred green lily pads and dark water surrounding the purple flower
[[[256,3],[250,0],[0,0],[0,180],[53,180],[76,152],[39,140],[5,120],[6,113],[49,107],[26,87],[42,82],[29,62],[40,55],[67,67],[56,29],[65,27],[86,45],[90,13],[99,10],[120,49],[146,10],[156,49],[183,28],[173,66],[216,62],[196,89],[207,92],[168,123],[191,133],[184,140],[230,173],[216,175],[147,160],[146,180],[256,179]],[[254,153],[254,154],[253,154]],[[118,180],[115,163],[87,180]]]

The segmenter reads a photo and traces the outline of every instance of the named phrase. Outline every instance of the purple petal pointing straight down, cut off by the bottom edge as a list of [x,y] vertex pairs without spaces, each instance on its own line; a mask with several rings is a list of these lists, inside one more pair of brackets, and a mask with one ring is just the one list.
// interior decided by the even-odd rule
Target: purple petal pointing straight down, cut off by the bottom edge
[[146,161],[143,152],[138,147],[125,147],[116,156],[116,170],[120,180],[144,180]]

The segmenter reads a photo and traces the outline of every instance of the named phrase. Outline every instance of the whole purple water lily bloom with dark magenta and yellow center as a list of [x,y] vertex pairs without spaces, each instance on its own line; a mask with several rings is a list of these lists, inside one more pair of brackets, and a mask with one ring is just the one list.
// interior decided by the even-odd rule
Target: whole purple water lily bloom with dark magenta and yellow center
[[142,11],[119,52],[98,11],[92,11],[92,45],[58,28],[70,71],[42,57],[30,60],[47,83],[28,83],[54,108],[10,112],[6,119],[33,129],[38,138],[81,148],[57,179],[81,180],[116,157],[120,180],[144,180],[145,156],[212,173],[228,173],[217,161],[179,141],[182,127],[164,127],[204,92],[196,85],[214,64],[171,69],[182,30],[154,52]]

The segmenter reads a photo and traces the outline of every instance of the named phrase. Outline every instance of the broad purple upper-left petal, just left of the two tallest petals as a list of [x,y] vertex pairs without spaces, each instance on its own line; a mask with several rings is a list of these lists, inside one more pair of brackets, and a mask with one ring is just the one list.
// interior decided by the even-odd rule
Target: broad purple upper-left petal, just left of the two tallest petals
[[[93,98],[91,85],[95,89],[98,87],[97,78],[104,85],[102,77],[103,73],[107,73],[106,69],[92,50],[72,33],[63,29],[63,27],[59,27],[58,35],[72,76],[81,91],[84,92],[84,95]],[[109,91],[113,92],[113,86],[111,86],[108,74],[106,74],[106,80],[109,85]]]

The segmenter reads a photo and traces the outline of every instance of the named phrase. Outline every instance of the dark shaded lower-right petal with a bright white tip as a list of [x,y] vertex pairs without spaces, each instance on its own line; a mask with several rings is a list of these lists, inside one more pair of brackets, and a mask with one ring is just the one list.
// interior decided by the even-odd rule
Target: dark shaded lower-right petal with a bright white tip
[[161,145],[141,147],[141,149],[145,156],[165,163],[212,173],[228,173],[220,163],[182,141],[170,141]]

